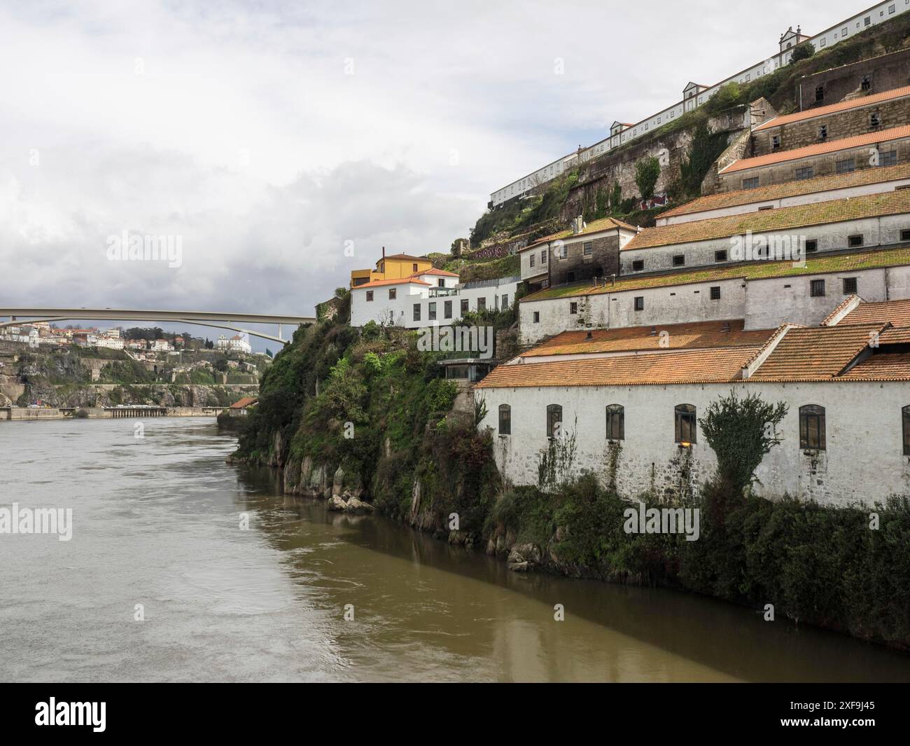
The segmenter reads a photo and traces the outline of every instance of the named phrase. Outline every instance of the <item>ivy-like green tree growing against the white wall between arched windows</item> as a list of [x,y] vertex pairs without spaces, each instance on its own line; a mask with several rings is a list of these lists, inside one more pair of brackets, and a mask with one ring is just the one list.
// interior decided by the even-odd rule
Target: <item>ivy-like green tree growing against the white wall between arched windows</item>
[[722,494],[741,496],[755,481],[755,469],[779,443],[776,429],[786,414],[784,402],[768,404],[757,393],[740,399],[735,390],[708,405],[698,422],[717,455],[715,486]]

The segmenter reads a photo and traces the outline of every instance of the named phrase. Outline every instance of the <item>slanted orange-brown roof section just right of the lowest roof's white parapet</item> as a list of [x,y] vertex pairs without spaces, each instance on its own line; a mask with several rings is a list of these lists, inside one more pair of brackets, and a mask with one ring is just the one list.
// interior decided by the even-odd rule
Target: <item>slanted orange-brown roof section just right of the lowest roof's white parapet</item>
[[822,381],[839,376],[886,324],[790,329],[750,381]]

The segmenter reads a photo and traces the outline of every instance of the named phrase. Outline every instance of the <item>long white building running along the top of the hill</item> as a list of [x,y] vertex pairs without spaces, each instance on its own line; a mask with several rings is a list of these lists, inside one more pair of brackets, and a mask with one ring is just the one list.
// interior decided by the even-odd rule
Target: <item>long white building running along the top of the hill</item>
[[531,189],[555,179],[563,172],[574,169],[591,158],[597,158],[613,148],[618,148],[635,138],[640,138],[642,135],[672,122],[675,118],[681,117],[684,112],[692,111],[695,107],[702,106],[708,98],[712,97],[728,83],[746,84],[773,73],[778,67],[789,64],[793,56],[794,47],[798,44],[808,41],[816,50],[824,49],[862,33],[870,26],[876,26],[890,20],[895,15],[904,13],[908,9],[910,9],[910,0],[885,0],[885,2],[877,3],[838,24],[834,24],[834,26],[829,26],[823,32],[814,36],[803,34],[799,26],[794,31],[791,26],[781,35],[778,40],[778,48],[771,56],[740,70],[738,73],[734,73],[730,77],[725,77],[713,86],[703,86],[690,81],[682,89],[682,99],[680,101],[639,122],[613,122],[610,128],[610,135],[607,138],[594,143],[589,148],[579,148],[576,152],[557,158],[541,169],[537,169],[527,176],[492,192],[490,194],[490,207],[494,208],[509,199],[521,197],[529,193]]

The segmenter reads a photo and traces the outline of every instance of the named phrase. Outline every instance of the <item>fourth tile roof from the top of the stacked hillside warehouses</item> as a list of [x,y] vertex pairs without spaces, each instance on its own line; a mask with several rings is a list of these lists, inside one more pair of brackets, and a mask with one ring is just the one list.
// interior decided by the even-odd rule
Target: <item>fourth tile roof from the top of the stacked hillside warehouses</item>
[[[910,131],[910,127],[907,129]],[[765,209],[740,215],[724,215],[720,218],[692,220],[677,225],[660,225],[642,230],[623,246],[622,250],[652,249],[658,246],[741,236],[747,231],[764,233],[844,220],[874,218],[880,215],[896,215],[902,212],[910,212],[910,189],[829,199],[808,205]]]

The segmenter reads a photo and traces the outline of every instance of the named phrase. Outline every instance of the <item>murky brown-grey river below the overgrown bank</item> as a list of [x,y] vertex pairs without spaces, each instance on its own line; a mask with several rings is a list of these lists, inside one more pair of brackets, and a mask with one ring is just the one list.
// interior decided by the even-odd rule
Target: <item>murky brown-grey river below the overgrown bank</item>
[[910,680],[843,635],[281,496],[214,420],[144,427],[0,423],[0,506],[73,510],[69,541],[0,534],[0,679]]

